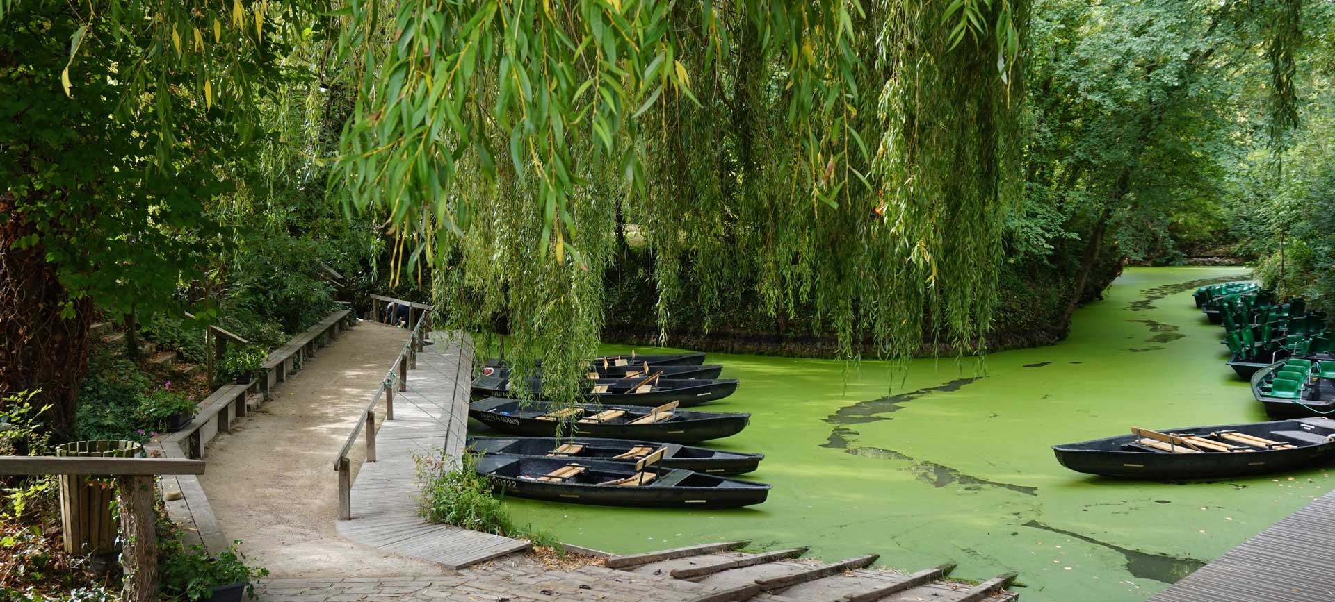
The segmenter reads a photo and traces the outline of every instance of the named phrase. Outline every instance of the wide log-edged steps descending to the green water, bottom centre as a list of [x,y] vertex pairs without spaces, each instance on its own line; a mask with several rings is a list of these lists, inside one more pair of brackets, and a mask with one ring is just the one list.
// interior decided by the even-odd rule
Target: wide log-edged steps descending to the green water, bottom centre
[[832,563],[798,561],[806,549],[744,553],[748,542],[706,543],[603,561],[609,569],[668,575],[704,586],[692,602],[1009,602],[1015,573],[983,583],[947,579],[955,563],[912,574],[869,570],[877,554]]

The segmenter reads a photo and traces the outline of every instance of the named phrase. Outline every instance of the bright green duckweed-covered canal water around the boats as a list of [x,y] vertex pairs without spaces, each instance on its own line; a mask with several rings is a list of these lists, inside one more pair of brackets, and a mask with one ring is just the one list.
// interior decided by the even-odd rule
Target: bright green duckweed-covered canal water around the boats
[[752,413],[714,446],[766,454],[749,475],[774,485],[766,503],[506,503],[519,523],[614,553],[753,539],[832,561],[878,553],[880,566],[908,570],[956,561],[955,575],[973,579],[1015,570],[1028,601],[1141,601],[1330,487],[1319,469],[1189,485],[1092,478],[1048,449],[1131,426],[1266,420],[1191,300],[1202,280],[1244,276],[1132,268],[1059,345],[981,368],[914,361],[893,382],[884,364],[845,378],[838,361],[712,353],[742,384],[702,409]]

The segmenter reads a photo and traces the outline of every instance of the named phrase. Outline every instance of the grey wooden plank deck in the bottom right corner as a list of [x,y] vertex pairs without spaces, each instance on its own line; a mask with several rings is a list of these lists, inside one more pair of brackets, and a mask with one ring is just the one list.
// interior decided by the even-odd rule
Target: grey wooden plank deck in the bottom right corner
[[1335,599],[1335,491],[1327,493],[1149,602]]

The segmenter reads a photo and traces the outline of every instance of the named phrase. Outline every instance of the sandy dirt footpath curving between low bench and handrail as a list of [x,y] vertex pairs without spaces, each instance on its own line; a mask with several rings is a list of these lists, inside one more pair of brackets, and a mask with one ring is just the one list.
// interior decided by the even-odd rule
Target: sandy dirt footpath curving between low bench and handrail
[[[447,569],[338,535],[334,457],[407,340],[359,322],[208,448],[200,477],[223,535],[272,577],[438,575]],[[379,412],[378,412],[379,413]],[[360,442],[360,440],[359,440]],[[360,445],[352,466],[359,466]]]

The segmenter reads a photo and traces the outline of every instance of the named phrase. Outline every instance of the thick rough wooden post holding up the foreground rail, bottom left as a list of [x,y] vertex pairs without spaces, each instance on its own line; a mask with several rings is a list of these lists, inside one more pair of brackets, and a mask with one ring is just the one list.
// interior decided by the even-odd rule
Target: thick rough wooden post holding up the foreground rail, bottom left
[[124,534],[121,566],[125,570],[125,602],[158,599],[158,531],[154,521],[154,477],[116,478],[120,530]]

